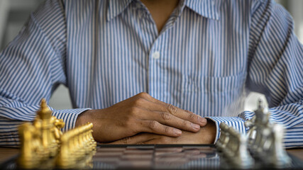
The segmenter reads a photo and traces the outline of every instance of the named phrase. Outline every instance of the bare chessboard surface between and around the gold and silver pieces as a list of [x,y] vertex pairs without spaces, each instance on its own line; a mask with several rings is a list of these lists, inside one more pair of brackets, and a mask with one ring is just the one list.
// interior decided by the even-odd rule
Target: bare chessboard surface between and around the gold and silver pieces
[[[302,169],[301,159],[289,154],[282,169]],[[17,157],[1,169],[18,169]],[[43,169],[41,166],[38,169]],[[250,169],[273,169],[256,162]],[[57,168],[55,168],[57,169]],[[92,160],[81,169],[234,169],[214,145],[99,145]]]

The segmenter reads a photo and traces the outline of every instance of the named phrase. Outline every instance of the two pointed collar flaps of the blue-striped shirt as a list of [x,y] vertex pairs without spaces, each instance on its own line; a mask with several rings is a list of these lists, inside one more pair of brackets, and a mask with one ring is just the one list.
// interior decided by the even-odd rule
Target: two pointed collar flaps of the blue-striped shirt
[[[107,21],[122,13],[133,0],[109,0]],[[184,5],[198,13],[200,16],[219,20],[219,14],[214,0],[185,0]]]

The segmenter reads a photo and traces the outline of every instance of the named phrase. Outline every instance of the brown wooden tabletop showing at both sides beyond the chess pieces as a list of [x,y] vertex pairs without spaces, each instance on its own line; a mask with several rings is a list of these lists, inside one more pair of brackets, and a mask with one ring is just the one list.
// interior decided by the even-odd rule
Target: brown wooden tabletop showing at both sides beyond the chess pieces
[[[19,150],[16,148],[0,147],[0,164],[18,154]],[[287,149],[287,152],[293,154],[303,161],[303,148]]]

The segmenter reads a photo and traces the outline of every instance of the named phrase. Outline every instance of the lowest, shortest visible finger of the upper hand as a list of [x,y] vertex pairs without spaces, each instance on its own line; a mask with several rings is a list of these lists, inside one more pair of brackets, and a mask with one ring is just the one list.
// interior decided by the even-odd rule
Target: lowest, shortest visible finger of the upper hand
[[178,137],[182,134],[181,130],[178,130],[177,128],[172,128],[167,125],[162,125],[156,120],[141,120],[141,125],[143,127],[144,132],[150,132],[170,137]]

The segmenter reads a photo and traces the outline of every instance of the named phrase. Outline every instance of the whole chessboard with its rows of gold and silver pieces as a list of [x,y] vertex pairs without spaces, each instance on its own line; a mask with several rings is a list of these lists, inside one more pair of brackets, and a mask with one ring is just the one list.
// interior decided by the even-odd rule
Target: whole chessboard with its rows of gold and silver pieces
[[0,169],[303,169],[286,152],[285,128],[270,122],[262,100],[245,122],[247,135],[221,123],[216,145],[97,145],[92,123],[63,133],[63,120],[45,99],[40,105],[33,123],[18,127],[20,154]]

